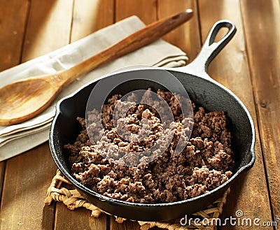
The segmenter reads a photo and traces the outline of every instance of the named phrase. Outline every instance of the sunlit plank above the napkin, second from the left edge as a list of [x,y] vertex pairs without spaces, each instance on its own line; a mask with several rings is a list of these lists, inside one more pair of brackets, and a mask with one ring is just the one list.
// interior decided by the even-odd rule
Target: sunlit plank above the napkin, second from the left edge
[[69,43],[73,0],[32,0],[22,62]]

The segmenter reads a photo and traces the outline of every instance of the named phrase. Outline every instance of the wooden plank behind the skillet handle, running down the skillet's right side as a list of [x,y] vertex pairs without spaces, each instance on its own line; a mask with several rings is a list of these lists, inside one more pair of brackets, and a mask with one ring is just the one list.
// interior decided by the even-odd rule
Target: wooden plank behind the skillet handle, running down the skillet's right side
[[[223,216],[235,217],[235,212],[241,210],[246,218],[252,220],[261,218],[263,221],[269,221],[271,220],[269,196],[262,162],[251,77],[245,52],[245,35],[242,29],[239,1],[220,0],[213,3],[201,0],[199,1],[199,10],[202,41],[205,40],[212,25],[218,20],[228,19],[237,26],[238,32],[235,37],[209,66],[209,75],[239,96],[251,113],[256,129],[255,164],[232,186],[232,192],[228,197]],[[225,229],[239,229],[239,227],[227,226]]]

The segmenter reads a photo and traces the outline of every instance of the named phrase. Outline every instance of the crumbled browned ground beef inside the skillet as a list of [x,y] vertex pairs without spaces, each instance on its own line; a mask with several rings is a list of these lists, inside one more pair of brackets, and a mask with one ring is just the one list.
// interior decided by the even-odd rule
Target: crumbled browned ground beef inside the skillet
[[186,148],[174,155],[176,141],[182,131],[182,115],[178,101],[170,92],[157,92],[168,103],[174,114],[174,138],[161,157],[140,166],[113,164],[102,157],[100,146],[118,148],[124,151],[141,151],[151,147],[162,131],[160,119],[153,108],[139,104],[132,108],[123,125],[132,133],[145,131],[139,126],[141,118],[147,118],[152,125],[149,139],[140,142],[125,141],[113,126],[113,108],[120,99],[114,95],[102,109],[102,122],[106,129],[102,136],[94,130],[94,120],[100,116],[96,110],[90,112],[95,143],[91,143],[85,127],[85,119],[78,117],[82,126],[76,142],[65,145],[73,176],[94,192],[122,201],[136,203],[168,203],[182,201],[209,192],[227,181],[232,175],[234,161],[231,150],[231,136],[227,129],[223,111],[207,113],[193,103],[193,133]]

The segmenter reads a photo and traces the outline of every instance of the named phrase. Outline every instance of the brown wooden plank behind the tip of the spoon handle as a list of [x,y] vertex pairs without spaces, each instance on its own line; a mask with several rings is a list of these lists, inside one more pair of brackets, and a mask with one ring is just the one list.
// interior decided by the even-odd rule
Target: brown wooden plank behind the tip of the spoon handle
[[190,61],[195,59],[198,52],[200,52],[200,26],[197,15],[197,2],[195,0],[162,0],[158,1],[158,17],[168,17],[172,14],[179,13],[186,9],[193,10],[193,18],[181,25],[179,28],[169,32],[169,34],[162,38],[173,45],[181,48],[188,55]]

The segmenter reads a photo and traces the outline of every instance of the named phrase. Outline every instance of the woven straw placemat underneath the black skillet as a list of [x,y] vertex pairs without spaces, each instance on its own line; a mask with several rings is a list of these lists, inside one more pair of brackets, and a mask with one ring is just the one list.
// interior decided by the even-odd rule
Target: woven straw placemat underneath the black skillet
[[[193,213],[193,215],[188,215],[189,219],[184,219],[184,223],[186,225],[182,225],[180,223],[181,218],[172,220],[169,222],[142,222],[138,221],[141,226],[141,230],[148,230],[153,227],[159,227],[160,229],[168,229],[168,230],[188,230],[188,229],[207,229],[212,230],[216,229],[216,223],[218,217],[220,217],[223,211],[223,205],[226,203],[226,198],[230,193],[230,189],[228,189],[223,196],[216,200],[211,206],[208,206],[204,210],[200,210],[197,213]],[[74,210],[76,208],[86,208],[92,211],[92,217],[98,218],[102,213],[106,213],[103,210],[100,210],[92,203],[86,201],[80,193],[73,188],[71,183],[64,178],[62,173],[57,170],[56,175],[52,178],[52,182],[50,183],[50,187],[48,187],[47,197],[45,198],[45,204],[50,205],[52,201],[59,201],[64,203],[64,205],[70,210]],[[111,215],[110,213],[106,213]],[[116,217],[116,216],[115,216]],[[190,220],[190,218],[192,218]],[[200,219],[200,221],[197,221]],[[116,217],[116,222],[123,223],[126,219],[122,217]],[[189,221],[190,220],[190,221]]]

